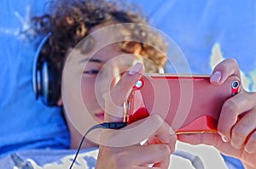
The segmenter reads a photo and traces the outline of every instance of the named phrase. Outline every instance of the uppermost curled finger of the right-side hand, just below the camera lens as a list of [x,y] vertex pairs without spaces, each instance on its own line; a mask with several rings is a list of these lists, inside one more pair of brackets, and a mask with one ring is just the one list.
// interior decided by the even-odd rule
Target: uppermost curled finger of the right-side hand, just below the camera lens
[[224,102],[218,118],[218,132],[225,141],[230,141],[231,129],[236,124],[238,115],[253,108],[253,97],[253,94],[242,92]]

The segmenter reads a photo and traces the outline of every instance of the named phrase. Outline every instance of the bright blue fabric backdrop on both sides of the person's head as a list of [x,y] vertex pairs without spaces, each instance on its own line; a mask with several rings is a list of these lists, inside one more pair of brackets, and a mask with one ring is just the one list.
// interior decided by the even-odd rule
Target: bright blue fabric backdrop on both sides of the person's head
[[[256,89],[256,14],[254,0],[129,0],[140,3],[152,25],[177,42],[193,73],[212,72],[212,49],[238,60],[247,89]],[[42,14],[44,1],[2,0],[0,22],[0,154],[15,149],[69,144],[60,110],[44,106],[32,93],[35,49],[29,30],[32,14]],[[29,36],[21,32],[29,32]],[[15,146],[16,145],[16,146]],[[227,164],[236,160],[224,156]],[[243,168],[241,163],[236,168]]]

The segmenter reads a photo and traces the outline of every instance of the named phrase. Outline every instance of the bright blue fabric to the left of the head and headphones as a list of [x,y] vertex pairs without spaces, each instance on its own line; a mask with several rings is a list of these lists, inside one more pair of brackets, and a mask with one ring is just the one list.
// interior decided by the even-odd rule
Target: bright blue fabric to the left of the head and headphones
[[59,108],[44,106],[32,89],[38,39],[30,18],[43,13],[44,1],[0,2],[0,157],[18,149],[63,149],[69,133]]

